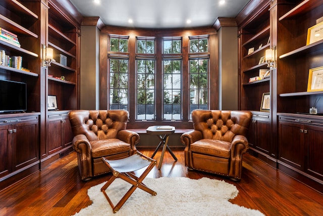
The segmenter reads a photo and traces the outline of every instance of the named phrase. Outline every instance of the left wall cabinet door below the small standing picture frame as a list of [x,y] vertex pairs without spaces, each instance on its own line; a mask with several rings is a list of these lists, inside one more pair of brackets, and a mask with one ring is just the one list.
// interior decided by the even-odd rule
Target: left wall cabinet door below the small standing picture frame
[[48,119],[48,155],[62,149],[62,117]]

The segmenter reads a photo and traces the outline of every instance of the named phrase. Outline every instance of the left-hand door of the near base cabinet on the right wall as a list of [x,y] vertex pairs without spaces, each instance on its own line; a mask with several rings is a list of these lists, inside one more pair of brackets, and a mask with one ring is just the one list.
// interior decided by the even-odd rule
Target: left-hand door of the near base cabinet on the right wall
[[279,122],[279,160],[304,170],[305,140],[303,125],[291,122]]

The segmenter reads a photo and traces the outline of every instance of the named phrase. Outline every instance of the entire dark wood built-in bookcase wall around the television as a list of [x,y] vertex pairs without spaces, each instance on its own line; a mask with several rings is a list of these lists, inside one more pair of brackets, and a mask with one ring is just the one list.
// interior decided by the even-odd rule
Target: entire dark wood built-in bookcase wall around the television
[[[0,28],[20,43],[0,40],[0,50],[22,56],[24,68],[0,65],[0,79],[27,87],[26,112],[0,113],[0,190],[73,150],[67,115],[79,108],[81,21],[67,0],[0,1]],[[66,64],[57,59],[42,67],[43,46]],[[58,110],[47,110],[48,95],[56,96]]]

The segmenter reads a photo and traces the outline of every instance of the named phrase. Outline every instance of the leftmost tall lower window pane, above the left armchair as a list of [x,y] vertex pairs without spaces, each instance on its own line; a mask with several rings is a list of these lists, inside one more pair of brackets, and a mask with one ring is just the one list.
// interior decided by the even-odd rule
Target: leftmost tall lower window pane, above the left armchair
[[110,59],[110,109],[128,109],[128,60]]

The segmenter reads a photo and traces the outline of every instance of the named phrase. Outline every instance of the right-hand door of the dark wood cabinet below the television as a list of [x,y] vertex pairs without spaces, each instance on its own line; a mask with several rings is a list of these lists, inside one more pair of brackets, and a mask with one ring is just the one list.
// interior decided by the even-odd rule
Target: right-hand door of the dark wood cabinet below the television
[[38,120],[12,125],[13,169],[17,170],[39,160]]

